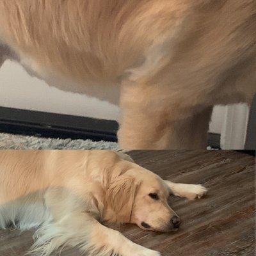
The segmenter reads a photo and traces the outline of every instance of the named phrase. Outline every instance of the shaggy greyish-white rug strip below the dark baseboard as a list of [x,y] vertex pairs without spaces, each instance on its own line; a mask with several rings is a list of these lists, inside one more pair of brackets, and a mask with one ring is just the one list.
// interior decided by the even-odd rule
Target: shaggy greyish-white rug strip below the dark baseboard
[[0,149],[112,149],[118,150],[118,143],[110,141],[71,140],[39,138],[0,133]]

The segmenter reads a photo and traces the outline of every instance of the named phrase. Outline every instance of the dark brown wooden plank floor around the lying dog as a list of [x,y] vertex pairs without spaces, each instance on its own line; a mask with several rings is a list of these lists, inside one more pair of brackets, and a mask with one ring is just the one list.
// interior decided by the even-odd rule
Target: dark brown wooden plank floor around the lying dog
[[[205,184],[205,198],[171,197],[182,218],[179,232],[143,231],[135,225],[118,228],[135,243],[162,255],[255,255],[255,157],[235,151],[132,151],[136,163],[175,182]],[[32,233],[0,230],[0,255],[22,256],[33,243]],[[65,248],[61,255],[80,255]],[[131,252],[132,256],[132,252]]]

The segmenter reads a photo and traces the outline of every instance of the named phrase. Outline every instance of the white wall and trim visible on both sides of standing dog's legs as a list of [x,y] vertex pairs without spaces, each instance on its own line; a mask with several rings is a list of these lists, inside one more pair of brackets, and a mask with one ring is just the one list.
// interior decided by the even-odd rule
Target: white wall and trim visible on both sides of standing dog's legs
[[[117,120],[119,116],[119,108],[113,104],[50,87],[10,60],[0,68],[0,106],[108,120]],[[243,147],[247,118],[245,105],[214,108],[210,132],[221,134],[221,148]]]

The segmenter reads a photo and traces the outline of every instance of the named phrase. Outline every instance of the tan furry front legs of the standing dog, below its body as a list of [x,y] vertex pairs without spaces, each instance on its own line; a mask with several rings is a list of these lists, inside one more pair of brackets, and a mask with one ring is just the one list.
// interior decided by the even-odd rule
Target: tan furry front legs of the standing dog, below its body
[[[141,88],[141,90],[143,90]],[[148,92],[150,93],[150,92]],[[125,149],[205,149],[212,107],[186,110],[175,108],[169,100],[141,99],[135,86],[125,88],[124,109],[118,141]],[[140,95],[140,99],[138,98]],[[152,99],[152,97],[150,97]],[[121,100],[122,100],[121,99]],[[160,103],[159,103],[160,102]]]

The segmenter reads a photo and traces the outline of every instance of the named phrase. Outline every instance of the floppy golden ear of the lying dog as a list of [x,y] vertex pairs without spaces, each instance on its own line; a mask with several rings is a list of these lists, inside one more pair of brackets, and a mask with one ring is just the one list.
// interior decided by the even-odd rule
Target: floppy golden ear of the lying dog
[[139,182],[134,177],[122,174],[110,182],[106,193],[108,205],[116,214],[118,222],[127,223],[131,219],[132,205]]

